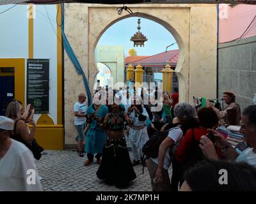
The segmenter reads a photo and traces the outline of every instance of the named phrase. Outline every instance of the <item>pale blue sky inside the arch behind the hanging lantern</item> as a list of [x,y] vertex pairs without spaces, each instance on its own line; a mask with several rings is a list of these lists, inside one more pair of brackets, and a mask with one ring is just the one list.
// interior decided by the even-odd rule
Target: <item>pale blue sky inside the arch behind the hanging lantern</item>
[[[131,37],[138,31],[138,17],[125,18],[111,25],[102,34],[97,45],[123,45],[125,57],[129,49],[135,48],[137,55],[155,55],[164,52],[166,47],[175,43],[172,34],[163,25],[147,18],[140,18],[140,32],[147,37],[144,47],[133,47]],[[178,49],[177,43],[168,50]]]

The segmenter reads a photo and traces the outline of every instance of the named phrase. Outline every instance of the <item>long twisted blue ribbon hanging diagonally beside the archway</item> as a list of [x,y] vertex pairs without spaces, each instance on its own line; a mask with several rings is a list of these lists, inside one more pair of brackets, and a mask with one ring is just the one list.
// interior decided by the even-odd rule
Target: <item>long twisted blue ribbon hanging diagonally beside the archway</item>
[[64,4],[61,4],[61,33],[62,33],[62,38],[63,38],[63,45],[67,52],[68,57],[74,64],[77,73],[79,75],[82,75],[82,77],[83,77],[84,87],[85,87],[86,93],[87,93],[88,105],[90,106],[92,104],[92,93],[90,91],[88,80],[85,77],[83,69],[81,67],[81,64],[79,63],[76,55],[74,54],[74,51],[73,51],[72,47],[70,46],[70,43],[68,42],[67,36],[64,32],[64,15],[63,15],[64,9],[63,8],[64,8]]

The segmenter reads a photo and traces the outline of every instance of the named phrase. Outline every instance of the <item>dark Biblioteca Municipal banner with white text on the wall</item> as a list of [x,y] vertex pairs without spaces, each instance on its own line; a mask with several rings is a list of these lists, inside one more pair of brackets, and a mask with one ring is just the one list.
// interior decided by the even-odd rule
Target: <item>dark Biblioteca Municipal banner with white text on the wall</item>
[[27,103],[49,113],[49,59],[27,59]]

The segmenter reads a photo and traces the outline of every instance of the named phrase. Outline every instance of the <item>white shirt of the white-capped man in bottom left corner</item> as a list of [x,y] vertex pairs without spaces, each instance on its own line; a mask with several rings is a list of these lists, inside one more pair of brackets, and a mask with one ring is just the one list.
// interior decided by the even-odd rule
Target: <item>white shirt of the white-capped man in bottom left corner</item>
[[[28,170],[35,170],[35,174]],[[28,184],[27,179],[35,184]],[[16,140],[0,159],[0,191],[42,191],[32,152]]]

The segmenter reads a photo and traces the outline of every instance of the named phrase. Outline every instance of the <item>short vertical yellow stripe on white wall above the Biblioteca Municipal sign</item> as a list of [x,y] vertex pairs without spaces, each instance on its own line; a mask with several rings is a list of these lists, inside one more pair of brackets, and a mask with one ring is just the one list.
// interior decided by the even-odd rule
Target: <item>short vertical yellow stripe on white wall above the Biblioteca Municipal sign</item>
[[29,4],[28,7],[29,18],[28,18],[28,57],[29,59],[34,58],[34,19],[33,19],[33,4]]

